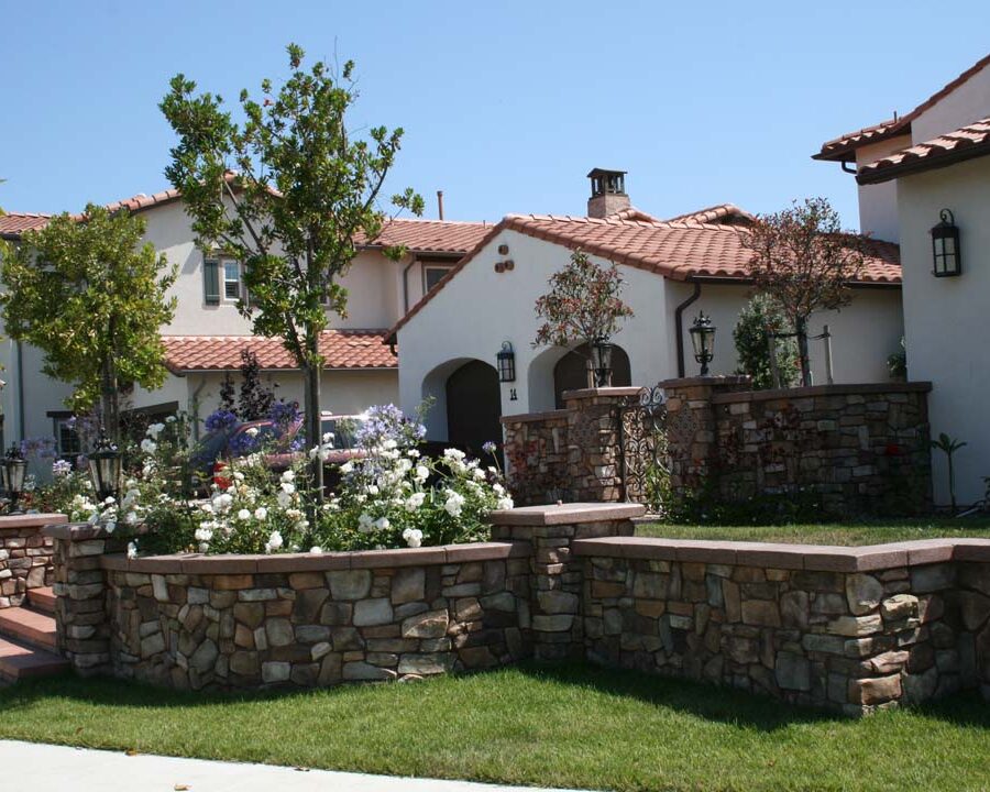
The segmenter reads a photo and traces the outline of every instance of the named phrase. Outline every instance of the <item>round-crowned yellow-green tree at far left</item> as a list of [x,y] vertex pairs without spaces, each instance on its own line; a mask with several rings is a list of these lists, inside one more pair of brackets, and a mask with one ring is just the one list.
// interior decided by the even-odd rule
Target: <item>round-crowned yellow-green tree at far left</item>
[[158,329],[175,315],[166,293],[176,268],[143,234],[143,218],[90,204],[81,217],[59,215],[25,232],[3,256],[0,310],[11,338],[38,348],[45,374],[74,386],[75,413],[99,402],[113,439],[122,386],[165,381]]

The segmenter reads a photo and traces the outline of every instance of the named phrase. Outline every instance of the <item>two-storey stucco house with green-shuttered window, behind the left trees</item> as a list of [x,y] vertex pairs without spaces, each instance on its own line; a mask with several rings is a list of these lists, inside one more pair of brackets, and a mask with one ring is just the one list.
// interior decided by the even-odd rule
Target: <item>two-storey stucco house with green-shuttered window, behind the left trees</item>
[[[135,388],[127,406],[153,415],[189,410],[205,418],[219,402],[224,375],[240,367],[244,348],[257,355],[263,378],[277,384],[278,396],[301,403],[302,381],[292,370],[290,355],[278,340],[253,337],[251,322],[237,309],[244,290],[241,264],[196,246],[178,193],[139,195],[109,208],[141,213],[145,239],[178,266],[170,290],[177,298],[175,318],[162,328],[168,377],[152,393]],[[16,241],[24,231],[43,227],[48,217],[0,217],[0,235]],[[490,230],[484,223],[396,219],[377,239],[361,244],[342,278],[349,292],[348,316],[334,315],[333,330],[321,342],[327,361],[323,409],[346,415],[398,399],[396,351],[383,343],[387,329]],[[382,254],[384,248],[399,244],[407,251],[402,261]],[[66,427],[70,414],[64,404],[70,388],[42,374],[42,360],[36,349],[3,339],[0,364],[7,385],[0,398],[7,441],[55,437],[58,452],[72,454],[78,447]]]

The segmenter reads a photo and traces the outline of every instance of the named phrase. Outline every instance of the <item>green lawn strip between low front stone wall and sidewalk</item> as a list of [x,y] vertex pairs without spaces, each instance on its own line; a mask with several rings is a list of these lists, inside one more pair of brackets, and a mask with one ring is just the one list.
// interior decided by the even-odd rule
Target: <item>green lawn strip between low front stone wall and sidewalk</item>
[[986,790],[990,706],[853,721],[583,666],[233,697],[70,676],[0,691],[0,737],[614,790]]

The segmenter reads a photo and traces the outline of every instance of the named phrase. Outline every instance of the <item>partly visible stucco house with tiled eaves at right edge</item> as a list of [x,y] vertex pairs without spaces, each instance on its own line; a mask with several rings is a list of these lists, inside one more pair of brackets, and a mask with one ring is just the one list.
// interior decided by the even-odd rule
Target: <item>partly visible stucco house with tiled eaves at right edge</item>
[[[982,498],[990,476],[988,155],[990,55],[911,112],[828,141],[814,155],[856,174],[864,230],[900,243],[908,374],[933,383],[933,433],[968,443],[955,458],[960,503]],[[958,249],[933,237],[943,218],[938,233],[957,234]],[[933,454],[942,504],[949,502],[945,462]]]

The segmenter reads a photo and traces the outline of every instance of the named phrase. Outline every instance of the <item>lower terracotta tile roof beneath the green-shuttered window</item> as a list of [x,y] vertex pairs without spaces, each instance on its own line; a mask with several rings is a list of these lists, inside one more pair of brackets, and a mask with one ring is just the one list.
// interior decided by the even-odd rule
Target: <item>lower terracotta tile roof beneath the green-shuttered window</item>
[[[320,339],[327,369],[395,369],[398,358],[384,345],[384,330],[330,330]],[[245,346],[257,355],[263,370],[295,369],[280,339],[260,336],[163,336],[165,364],[182,373],[233,371],[241,365]]]

